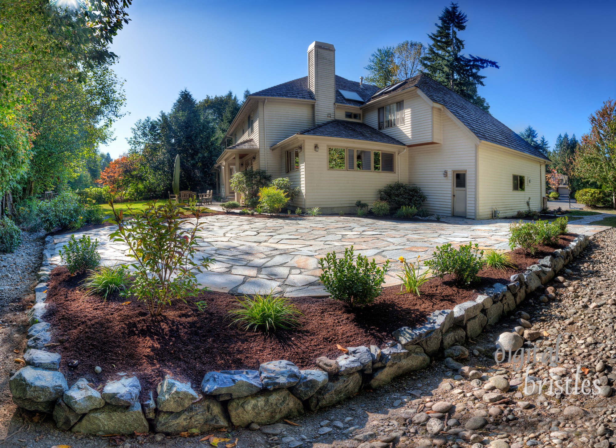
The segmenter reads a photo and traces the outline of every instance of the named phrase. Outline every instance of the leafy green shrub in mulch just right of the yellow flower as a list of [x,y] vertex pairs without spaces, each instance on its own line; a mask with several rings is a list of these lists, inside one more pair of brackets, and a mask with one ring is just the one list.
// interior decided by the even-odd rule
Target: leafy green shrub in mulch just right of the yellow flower
[[462,244],[459,249],[451,243],[438,246],[434,257],[426,261],[432,271],[443,278],[446,274],[453,274],[456,284],[469,286],[479,281],[477,274],[484,267],[484,251],[479,250],[479,244]]

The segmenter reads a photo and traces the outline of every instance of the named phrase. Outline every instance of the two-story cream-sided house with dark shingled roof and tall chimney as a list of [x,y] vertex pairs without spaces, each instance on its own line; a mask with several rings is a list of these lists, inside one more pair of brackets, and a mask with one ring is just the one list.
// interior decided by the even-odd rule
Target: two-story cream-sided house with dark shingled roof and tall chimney
[[433,214],[490,218],[540,210],[549,162],[513,130],[424,74],[385,89],[336,76],[312,42],[308,76],[249,95],[217,160],[218,191],[248,167],[301,188],[293,206],[351,212],[383,186],[421,187]]

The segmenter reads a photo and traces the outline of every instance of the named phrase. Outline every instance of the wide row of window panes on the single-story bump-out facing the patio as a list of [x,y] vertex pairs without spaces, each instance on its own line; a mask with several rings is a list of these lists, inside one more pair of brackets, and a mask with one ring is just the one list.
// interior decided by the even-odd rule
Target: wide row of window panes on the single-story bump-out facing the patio
[[328,147],[328,169],[347,171],[395,172],[395,153]]

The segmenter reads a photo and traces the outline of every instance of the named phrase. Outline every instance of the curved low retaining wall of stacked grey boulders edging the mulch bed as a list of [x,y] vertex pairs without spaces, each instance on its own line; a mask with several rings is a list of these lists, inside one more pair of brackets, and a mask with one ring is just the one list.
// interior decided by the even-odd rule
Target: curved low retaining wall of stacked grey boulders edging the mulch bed
[[[207,372],[200,389],[171,377],[142,396],[136,377],[118,374],[118,379],[94,389],[85,378],[68,386],[59,372],[60,355],[46,350],[51,343],[49,324],[44,322],[49,272],[50,244],[44,249],[36,286],[36,303],[27,311],[26,366],[9,380],[13,401],[23,409],[53,414],[57,427],[80,433],[134,434],[155,431],[200,433],[251,423],[267,425],[282,418],[301,415],[306,410],[333,406],[358,393],[362,386],[377,388],[395,377],[428,367],[431,357],[474,339],[487,324],[513,311],[527,294],[554,278],[588,245],[588,236],[578,236],[569,247],[538,260],[524,273],[511,276],[507,285],[495,284],[475,300],[456,305],[453,310],[434,311],[416,327],[402,327],[393,333],[395,340],[378,346],[347,347],[337,359],[318,358],[320,369],[300,370],[293,362],[265,362],[259,370]],[[592,237],[591,237],[592,238]],[[548,302],[551,294],[541,300]],[[519,333],[503,333],[498,342],[505,351],[517,350],[524,338]],[[457,367],[453,359],[446,364]],[[464,372],[461,372],[464,374]]]

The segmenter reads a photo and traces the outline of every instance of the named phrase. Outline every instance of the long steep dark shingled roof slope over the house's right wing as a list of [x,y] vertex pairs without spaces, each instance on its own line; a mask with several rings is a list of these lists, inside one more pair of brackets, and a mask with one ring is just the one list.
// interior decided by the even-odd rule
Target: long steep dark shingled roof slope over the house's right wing
[[498,121],[486,111],[480,109],[460,95],[456,94],[447,87],[443,86],[426,74],[419,74],[413,78],[399,82],[399,85],[388,90],[389,87],[376,92],[371,100],[380,98],[384,95],[391,95],[401,90],[417,87],[433,102],[444,105],[451,113],[458,118],[464,126],[468,127],[473,134],[485,142],[495,143],[495,145],[505,146],[521,153],[539,157],[546,161],[549,159],[541,151],[530,146],[529,142],[509,129],[505,124]]

